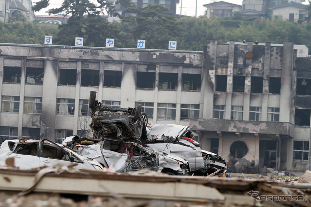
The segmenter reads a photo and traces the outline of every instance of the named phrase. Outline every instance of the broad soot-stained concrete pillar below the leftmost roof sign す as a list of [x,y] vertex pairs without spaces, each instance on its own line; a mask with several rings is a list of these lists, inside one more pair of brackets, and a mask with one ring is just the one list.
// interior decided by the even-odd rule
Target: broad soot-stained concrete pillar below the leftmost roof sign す
[[[50,48],[42,48],[41,50],[43,57],[51,56]],[[54,141],[55,137],[57,83],[58,61],[45,60],[40,137],[51,141]]]

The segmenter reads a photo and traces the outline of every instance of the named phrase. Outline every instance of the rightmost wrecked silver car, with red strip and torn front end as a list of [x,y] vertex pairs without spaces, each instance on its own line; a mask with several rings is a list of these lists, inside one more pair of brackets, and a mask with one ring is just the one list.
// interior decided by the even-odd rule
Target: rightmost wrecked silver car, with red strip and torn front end
[[224,174],[227,170],[225,159],[202,150],[192,138],[190,125],[147,124],[148,146],[184,158],[195,175]]

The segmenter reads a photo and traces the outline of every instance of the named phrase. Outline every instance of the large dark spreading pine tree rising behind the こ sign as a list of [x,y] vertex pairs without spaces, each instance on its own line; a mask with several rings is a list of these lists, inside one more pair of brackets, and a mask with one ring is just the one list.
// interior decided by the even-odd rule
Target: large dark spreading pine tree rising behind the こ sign
[[[48,5],[49,0],[41,0],[33,9],[39,11]],[[103,46],[105,38],[112,38],[112,28],[101,15],[113,11],[109,0],[64,0],[61,7],[48,10],[49,14],[71,15],[67,23],[59,25],[55,43],[74,45],[75,37],[83,37],[85,46]]]

